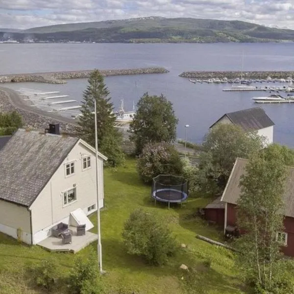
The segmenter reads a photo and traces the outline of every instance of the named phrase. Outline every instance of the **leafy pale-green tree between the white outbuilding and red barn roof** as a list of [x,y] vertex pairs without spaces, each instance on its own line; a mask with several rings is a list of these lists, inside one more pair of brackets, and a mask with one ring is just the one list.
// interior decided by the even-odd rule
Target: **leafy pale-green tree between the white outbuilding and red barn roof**
[[200,155],[198,183],[205,193],[221,192],[237,157],[248,158],[263,147],[264,138],[240,126],[219,124],[205,136]]

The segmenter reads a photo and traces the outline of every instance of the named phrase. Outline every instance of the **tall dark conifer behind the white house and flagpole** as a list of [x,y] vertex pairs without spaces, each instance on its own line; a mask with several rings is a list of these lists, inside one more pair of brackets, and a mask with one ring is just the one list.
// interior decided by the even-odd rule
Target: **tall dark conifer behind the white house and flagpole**
[[[78,120],[77,134],[87,143],[95,146],[95,100],[97,103],[98,148],[108,157],[108,164],[116,166],[124,159],[122,134],[114,126],[116,117],[109,91],[99,71],[93,71],[83,93],[81,116]],[[113,151],[115,150],[115,152]]]

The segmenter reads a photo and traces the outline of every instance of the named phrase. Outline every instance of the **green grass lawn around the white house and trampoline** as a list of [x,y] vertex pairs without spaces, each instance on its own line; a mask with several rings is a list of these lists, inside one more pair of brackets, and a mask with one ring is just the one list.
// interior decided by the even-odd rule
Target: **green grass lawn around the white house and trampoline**
[[[203,206],[208,200],[190,199],[187,204],[172,207],[154,206],[150,199],[150,187],[144,186],[136,172],[134,160],[127,160],[118,170],[105,170],[105,209],[101,211],[101,233],[103,268],[106,274],[102,281],[107,293],[128,294],[241,294],[243,285],[236,276],[233,255],[230,251],[210,245],[195,238],[196,234],[215,240],[221,238],[220,232],[205,222],[193,217],[196,207]],[[130,212],[142,207],[163,217],[172,229],[179,245],[175,257],[167,266],[156,268],[148,266],[137,256],[125,252],[122,241],[122,228]],[[96,215],[91,216],[96,224]],[[96,243],[93,244],[96,247]],[[86,255],[89,247],[78,255]],[[37,294],[42,293],[28,283],[27,266],[40,262],[44,258],[57,258],[60,275],[66,276],[73,265],[71,253],[49,253],[38,246],[26,246],[0,235],[0,293],[1,294]],[[211,260],[211,268],[204,263]],[[181,264],[196,270],[195,285],[187,290],[187,273],[179,269]],[[194,280],[194,279],[193,279]],[[60,293],[65,293],[62,289]]]

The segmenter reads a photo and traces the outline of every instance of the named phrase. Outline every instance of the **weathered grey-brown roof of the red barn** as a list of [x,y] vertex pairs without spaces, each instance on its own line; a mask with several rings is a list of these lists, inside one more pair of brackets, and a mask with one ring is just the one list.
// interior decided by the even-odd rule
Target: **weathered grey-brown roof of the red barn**
[[[247,162],[247,159],[236,159],[235,165],[222,194],[221,201],[237,204],[241,194],[240,178],[245,172]],[[294,218],[294,168],[292,167],[288,168],[283,199],[285,204],[283,214],[287,217]]]

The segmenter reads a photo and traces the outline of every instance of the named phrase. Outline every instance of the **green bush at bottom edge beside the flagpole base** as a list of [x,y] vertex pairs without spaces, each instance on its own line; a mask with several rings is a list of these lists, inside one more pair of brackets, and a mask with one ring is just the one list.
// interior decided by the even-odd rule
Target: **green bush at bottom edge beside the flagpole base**
[[70,294],[101,293],[98,276],[97,255],[93,249],[86,260],[77,257],[69,279]]

